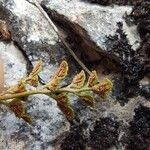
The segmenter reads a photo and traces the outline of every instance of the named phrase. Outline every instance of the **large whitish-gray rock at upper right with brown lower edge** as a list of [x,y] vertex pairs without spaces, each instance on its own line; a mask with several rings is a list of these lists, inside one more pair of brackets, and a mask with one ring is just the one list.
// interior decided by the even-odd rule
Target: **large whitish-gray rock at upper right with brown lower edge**
[[110,53],[107,44],[107,36],[115,35],[118,22],[123,23],[123,30],[132,48],[136,50],[139,47],[140,37],[136,26],[128,26],[123,18],[132,11],[131,6],[103,7],[80,0],[43,0],[41,4],[54,20],[63,24],[64,28],[69,27],[86,45],[90,45],[91,50],[106,54],[111,59],[123,59],[117,53]]

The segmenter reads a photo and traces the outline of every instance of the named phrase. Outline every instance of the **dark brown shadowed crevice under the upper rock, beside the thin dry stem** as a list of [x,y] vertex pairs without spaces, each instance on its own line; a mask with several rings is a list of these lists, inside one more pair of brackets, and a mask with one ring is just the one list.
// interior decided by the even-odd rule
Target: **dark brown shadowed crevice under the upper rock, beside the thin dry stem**
[[73,23],[67,17],[54,10],[47,9],[44,4],[42,7],[60,29],[60,32],[62,32],[62,35],[76,55],[91,70],[94,68],[94,64],[97,63],[105,64],[103,67],[109,71],[118,72],[121,70],[120,60],[118,60],[113,53],[112,55],[108,55],[104,49],[97,46],[97,44],[90,39],[87,31],[79,24]]

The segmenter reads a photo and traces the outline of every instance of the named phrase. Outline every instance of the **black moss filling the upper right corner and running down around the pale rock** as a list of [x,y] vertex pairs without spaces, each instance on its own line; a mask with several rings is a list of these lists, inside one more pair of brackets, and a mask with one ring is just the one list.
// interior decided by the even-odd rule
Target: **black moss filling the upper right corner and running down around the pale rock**
[[[122,24],[118,23],[115,36],[109,36],[107,49],[110,54],[116,53],[122,60],[122,78],[120,79],[120,94],[117,100],[124,105],[129,97],[140,92],[139,80],[150,72],[150,1],[149,0],[84,0],[100,5],[134,5],[133,11],[126,17],[127,23],[137,24],[141,36],[141,44],[135,52],[128,44],[126,34],[122,31]],[[115,92],[114,92],[115,93]]]

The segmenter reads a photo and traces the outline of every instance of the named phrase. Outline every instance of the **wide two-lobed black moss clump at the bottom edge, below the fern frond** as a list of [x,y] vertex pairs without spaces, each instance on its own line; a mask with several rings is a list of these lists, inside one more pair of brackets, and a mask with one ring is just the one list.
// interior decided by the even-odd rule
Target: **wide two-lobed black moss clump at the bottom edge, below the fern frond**
[[56,147],[60,150],[107,150],[115,146],[119,123],[111,118],[100,118],[92,129],[87,122],[73,123],[70,131],[60,137]]

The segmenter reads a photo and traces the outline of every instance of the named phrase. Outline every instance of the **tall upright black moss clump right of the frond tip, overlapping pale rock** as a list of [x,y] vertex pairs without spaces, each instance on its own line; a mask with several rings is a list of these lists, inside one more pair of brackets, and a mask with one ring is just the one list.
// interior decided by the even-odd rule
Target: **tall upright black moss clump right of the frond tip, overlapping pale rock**
[[118,23],[118,29],[114,36],[107,37],[108,52],[119,56],[122,75],[121,91],[116,95],[116,99],[124,105],[128,98],[135,96],[139,92],[139,80],[144,76],[144,58],[141,53],[135,52],[128,44],[126,34],[122,30],[122,23]]

